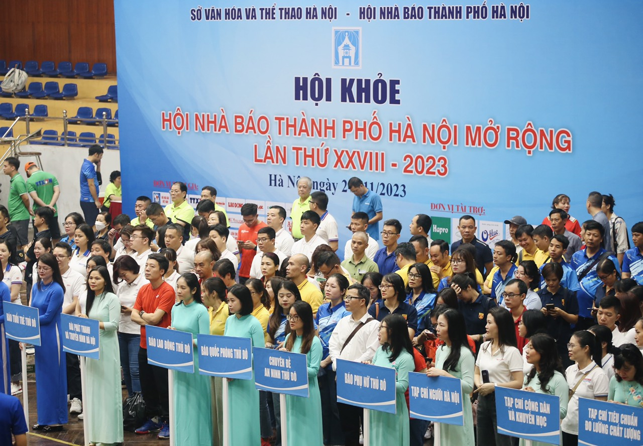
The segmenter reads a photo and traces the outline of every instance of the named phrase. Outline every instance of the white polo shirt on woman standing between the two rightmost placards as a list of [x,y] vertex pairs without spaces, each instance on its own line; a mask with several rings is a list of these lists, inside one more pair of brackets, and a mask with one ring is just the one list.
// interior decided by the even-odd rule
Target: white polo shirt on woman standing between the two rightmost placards
[[[591,370],[591,371],[590,371]],[[587,372],[588,375],[583,378]],[[574,395],[569,399],[567,404],[567,415],[561,422],[561,429],[568,434],[578,435],[578,398],[607,397],[610,389],[610,380],[605,372],[595,362],[590,362],[583,370],[578,370],[578,364],[573,364],[565,371],[567,385],[570,390],[579,382],[581,384],[576,388]]]

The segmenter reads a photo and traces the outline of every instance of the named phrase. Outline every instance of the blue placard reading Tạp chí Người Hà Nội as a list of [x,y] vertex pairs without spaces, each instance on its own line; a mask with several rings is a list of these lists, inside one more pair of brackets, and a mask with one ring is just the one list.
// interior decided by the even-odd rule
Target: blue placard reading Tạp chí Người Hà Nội
[[451,377],[408,374],[409,415],[436,423],[463,425],[462,381]]

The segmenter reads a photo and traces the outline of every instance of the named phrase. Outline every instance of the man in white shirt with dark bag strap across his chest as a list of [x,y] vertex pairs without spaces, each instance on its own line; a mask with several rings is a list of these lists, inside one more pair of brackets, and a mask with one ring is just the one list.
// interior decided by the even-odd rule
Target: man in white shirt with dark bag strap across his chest
[[[372,361],[379,347],[379,322],[367,313],[370,301],[368,289],[359,283],[350,285],[344,301],[350,316],[340,319],[329,341],[329,357],[333,371],[337,370],[338,359],[354,362]],[[363,416],[363,409],[340,402],[337,407],[346,444],[358,444],[359,420]]]

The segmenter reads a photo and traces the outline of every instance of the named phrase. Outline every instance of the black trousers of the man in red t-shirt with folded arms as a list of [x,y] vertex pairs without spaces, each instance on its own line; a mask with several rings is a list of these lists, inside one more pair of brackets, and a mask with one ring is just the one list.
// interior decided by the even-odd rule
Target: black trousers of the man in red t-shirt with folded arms
[[145,415],[148,418],[159,416],[167,420],[170,416],[167,369],[148,364],[147,348],[140,348],[138,350],[138,373],[143,400],[145,400]]

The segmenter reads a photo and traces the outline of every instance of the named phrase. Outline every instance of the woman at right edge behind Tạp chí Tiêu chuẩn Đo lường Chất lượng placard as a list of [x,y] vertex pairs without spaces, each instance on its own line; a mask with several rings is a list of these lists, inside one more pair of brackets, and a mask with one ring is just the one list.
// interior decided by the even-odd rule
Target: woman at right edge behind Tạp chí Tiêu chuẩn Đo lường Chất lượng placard
[[634,344],[620,346],[614,355],[616,375],[610,380],[608,400],[643,407],[643,355]]

